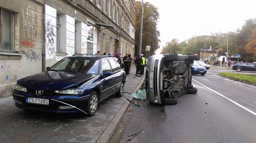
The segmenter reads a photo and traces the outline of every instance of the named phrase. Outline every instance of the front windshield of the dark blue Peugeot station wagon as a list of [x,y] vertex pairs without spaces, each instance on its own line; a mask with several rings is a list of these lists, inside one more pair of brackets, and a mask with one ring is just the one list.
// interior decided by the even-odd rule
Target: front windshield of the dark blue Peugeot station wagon
[[49,70],[97,75],[99,71],[99,60],[84,58],[64,58],[53,65]]

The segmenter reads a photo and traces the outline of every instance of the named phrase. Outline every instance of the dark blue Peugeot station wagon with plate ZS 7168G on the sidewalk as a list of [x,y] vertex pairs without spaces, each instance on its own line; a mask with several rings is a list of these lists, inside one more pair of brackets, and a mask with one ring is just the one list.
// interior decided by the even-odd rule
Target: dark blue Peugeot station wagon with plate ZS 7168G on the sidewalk
[[54,113],[87,113],[93,116],[98,103],[123,95],[126,79],[117,58],[76,54],[47,67],[47,71],[17,81],[12,96],[26,110]]

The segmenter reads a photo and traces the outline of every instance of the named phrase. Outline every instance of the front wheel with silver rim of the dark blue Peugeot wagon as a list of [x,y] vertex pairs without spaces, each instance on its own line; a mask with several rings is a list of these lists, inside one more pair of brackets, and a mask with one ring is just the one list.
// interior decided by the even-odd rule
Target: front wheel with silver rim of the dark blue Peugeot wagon
[[92,91],[89,97],[89,101],[88,101],[88,106],[87,106],[87,110],[86,113],[88,114],[88,116],[93,116],[97,109],[98,109],[98,94],[96,91]]

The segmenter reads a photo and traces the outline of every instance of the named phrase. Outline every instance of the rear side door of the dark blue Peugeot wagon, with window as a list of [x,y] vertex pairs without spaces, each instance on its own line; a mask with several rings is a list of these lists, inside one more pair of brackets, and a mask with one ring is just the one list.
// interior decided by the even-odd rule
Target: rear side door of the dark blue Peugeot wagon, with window
[[121,81],[123,80],[123,72],[120,70],[115,59],[110,59],[109,63],[112,68],[113,85],[115,86],[113,88],[113,93],[116,93],[119,90]]

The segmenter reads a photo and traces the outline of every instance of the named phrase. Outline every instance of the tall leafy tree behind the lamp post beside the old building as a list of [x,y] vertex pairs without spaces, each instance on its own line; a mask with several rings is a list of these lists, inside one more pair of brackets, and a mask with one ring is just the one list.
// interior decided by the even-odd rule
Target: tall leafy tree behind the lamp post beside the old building
[[[150,53],[154,53],[159,48],[160,32],[157,30],[157,21],[159,19],[158,8],[149,2],[144,4],[143,31],[141,53],[146,54],[145,48],[150,45]],[[136,1],[136,19],[135,19],[135,53],[139,53],[140,44],[140,21],[141,21],[141,1]]]

